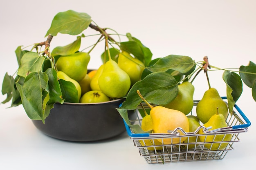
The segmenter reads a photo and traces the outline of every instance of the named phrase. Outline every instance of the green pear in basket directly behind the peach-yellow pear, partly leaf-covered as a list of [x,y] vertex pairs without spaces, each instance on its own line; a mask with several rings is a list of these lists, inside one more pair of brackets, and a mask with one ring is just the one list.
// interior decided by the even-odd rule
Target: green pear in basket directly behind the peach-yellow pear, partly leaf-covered
[[191,112],[194,105],[193,95],[195,88],[190,82],[183,82],[178,85],[178,88],[179,91],[175,99],[172,102],[161,106],[179,110],[187,115]]

